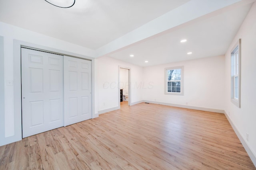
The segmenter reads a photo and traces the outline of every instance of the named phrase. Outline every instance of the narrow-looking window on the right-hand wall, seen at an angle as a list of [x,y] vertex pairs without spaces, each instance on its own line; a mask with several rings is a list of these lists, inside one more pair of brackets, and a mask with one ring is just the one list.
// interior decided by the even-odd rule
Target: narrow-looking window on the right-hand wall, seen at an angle
[[241,39],[231,51],[231,102],[240,107]]

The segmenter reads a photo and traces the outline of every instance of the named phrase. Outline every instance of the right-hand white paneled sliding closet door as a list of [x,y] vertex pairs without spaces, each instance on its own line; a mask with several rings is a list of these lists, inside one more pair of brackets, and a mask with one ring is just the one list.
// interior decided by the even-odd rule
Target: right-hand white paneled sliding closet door
[[92,62],[64,56],[64,126],[92,118]]

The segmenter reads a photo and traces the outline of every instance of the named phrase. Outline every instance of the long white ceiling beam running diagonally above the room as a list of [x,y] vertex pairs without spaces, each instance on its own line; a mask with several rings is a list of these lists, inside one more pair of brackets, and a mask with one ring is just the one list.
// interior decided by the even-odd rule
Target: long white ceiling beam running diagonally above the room
[[[117,51],[178,25],[187,23],[231,5],[252,3],[255,0],[191,0],[170,12],[134,29],[96,50],[96,57]],[[239,2],[239,3],[238,3]]]

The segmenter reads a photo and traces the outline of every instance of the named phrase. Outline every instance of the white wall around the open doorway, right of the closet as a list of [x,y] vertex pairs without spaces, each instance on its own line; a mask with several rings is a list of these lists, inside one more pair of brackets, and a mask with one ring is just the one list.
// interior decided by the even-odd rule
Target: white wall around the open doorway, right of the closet
[[[117,108],[120,104],[118,68],[128,67],[131,74],[131,105],[142,100],[142,90],[137,84],[143,82],[143,68],[110,57],[95,59],[97,63],[98,110]],[[104,112],[104,111],[103,111]]]

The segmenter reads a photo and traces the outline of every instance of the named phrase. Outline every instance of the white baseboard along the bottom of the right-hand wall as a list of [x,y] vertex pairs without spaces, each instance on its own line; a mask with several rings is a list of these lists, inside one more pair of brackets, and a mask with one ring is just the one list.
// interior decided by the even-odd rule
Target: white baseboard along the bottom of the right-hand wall
[[250,148],[250,146],[248,145],[248,143],[246,142],[246,140],[243,138],[243,136],[241,135],[241,133],[238,131],[238,129],[236,128],[236,125],[234,125],[234,123],[231,121],[230,117],[227,115],[226,111],[224,111],[224,114],[226,116],[226,118],[228,119],[230,125],[232,126],[232,128],[234,129],[238,139],[240,140],[240,142],[242,143],[244,149],[246,150],[246,152],[248,153],[249,157],[252,160],[252,163],[254,164],[254,166],[256,167],[256,154],[252,151],[252,149]]

